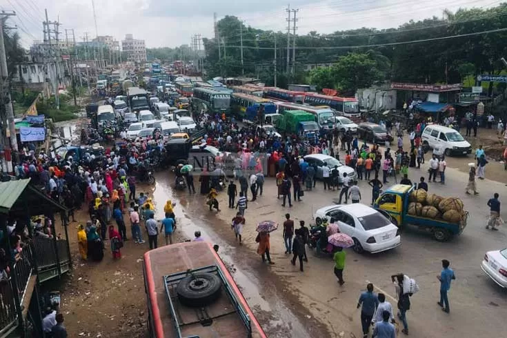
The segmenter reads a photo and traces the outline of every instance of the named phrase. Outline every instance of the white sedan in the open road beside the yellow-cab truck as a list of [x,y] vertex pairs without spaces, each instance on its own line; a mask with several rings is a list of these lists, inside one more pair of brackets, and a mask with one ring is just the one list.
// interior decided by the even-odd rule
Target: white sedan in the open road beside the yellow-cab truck
[[326,206],[315,212],[315,222],[331,218],[338,223],[340,232],[354,239],[355,252],[382,252],[401,244],[399,228],[381,212],[361,203]]

